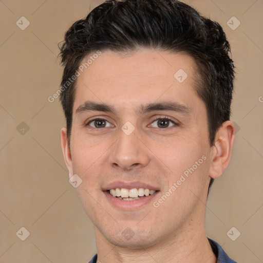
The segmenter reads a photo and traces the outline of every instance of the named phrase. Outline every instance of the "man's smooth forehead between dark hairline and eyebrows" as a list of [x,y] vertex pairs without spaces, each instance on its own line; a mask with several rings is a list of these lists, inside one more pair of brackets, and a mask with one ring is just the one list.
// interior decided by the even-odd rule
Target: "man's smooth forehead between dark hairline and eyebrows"
[[127,103],[139,106],[158,99],[174,99],[183,105],[188,98],[191,106],[198,99],[194,91],[195,62],[189,55],[151,49],[93,54],[81,63],[84,67],[79,70],[73,112],[86,100],[115,104],[121,109]]

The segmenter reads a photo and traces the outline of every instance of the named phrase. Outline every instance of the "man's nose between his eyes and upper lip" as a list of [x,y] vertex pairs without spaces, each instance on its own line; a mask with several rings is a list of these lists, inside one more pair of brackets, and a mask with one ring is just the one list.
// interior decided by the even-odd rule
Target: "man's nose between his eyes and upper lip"
[[141,168],[149,162],[149,150],[136,132],[126,135],[120,130],[119,139],[110,153],[109,162],[111,166],[125,171]]

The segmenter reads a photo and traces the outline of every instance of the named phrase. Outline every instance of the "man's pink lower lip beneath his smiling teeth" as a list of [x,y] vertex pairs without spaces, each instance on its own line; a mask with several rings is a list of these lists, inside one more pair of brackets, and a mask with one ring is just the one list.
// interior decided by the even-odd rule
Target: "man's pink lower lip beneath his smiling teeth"
[[136,200],[121,200],[110,195],[107,191],[104,191],[103,193],[109,200],[109,202],[117,208],[121,210],[135,210],[141,208],[145,204],[150,203],[156,197],[156,194],[159,193],[159,191],[154,193],[153,195],[144,196]]

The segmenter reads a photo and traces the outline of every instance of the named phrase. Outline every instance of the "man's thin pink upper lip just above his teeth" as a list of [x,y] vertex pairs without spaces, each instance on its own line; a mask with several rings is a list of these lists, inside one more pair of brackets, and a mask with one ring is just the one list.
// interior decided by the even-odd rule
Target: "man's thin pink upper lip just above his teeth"
[[134,182],[124,182],[124,181],[114,181],[109,184],[107,184],[105,187],[102,187],[102,191],[108,191],[110,189],[116,189],[116,188],[126,188],[126,189],[149,189],[149,190],[155,190],[159,191],[159,188],[157,186],[140,182],[140,181],[134,181]]

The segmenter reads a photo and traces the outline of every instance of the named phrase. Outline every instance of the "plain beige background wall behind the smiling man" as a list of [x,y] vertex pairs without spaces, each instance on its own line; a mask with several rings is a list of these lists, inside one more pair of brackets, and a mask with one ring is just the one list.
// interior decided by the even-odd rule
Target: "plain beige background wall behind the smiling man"
[[[90,5],[102,2],[0,1],[0,262],[84,263],[96,253],[92,223],[68,183],[60,146],[62,107],[47,98],[60,86],[58,43]],[[239,263],[260,263],[263,1],[185,2],[222,25],[237,67],[232,120],[240,130],[231,163],[212,187],[207,235]],[[25,30],[16,25],[21,16],[30,22]],[[232,16],[241,22],[235,30],[227,25]],[[21,122],[29,127],[24,135]],[[25,241],[16,236],[21,227],[30,232]],[[227,235],[232,227],[241,233],[235,241]]]

